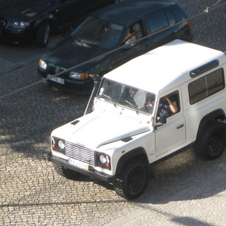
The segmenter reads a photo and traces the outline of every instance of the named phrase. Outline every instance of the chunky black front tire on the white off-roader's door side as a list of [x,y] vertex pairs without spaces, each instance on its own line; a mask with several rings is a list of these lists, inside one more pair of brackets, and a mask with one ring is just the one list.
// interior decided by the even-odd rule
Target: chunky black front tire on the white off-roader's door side
[[138,198],[148,182],[148,166],[140,159],[129,160],[114,184],[116,193],[128,200]]

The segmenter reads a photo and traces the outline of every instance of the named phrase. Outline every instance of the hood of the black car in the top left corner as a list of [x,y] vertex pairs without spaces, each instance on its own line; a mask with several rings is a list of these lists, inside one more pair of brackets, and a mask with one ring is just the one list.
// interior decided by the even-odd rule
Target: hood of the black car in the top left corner
[[10,0],[1,2],[0,16],[8,19],[25,20],[35,17],[49,6],[48,2],[39,0]]

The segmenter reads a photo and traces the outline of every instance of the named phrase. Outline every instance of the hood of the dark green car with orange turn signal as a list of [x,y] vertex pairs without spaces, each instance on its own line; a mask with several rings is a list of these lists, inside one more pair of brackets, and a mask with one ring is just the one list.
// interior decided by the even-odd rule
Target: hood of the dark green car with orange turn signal
[[[109,49],[106,48],[84,46],[76,43],[75,41],[66,40],[62,45],[57,46],[49,53],[42,56],[42,60],[52,66],[64,69],[81,64],[75,70],[77,72],[86,72],[105,58],[105,56],[98,56],[101,56],[108,51]],[[96,59],[93,59],[95,57]],[[86,62],[91,59],[92,61]],[[82,65],[82,63],[84,64]]]

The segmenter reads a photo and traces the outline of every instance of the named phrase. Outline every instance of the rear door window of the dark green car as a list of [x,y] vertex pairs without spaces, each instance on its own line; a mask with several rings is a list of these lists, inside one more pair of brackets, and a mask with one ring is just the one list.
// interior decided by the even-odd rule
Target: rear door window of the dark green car
[[154,33],[169,26],[168,18],[164,11],[150,14],[145,17],[149,33]]

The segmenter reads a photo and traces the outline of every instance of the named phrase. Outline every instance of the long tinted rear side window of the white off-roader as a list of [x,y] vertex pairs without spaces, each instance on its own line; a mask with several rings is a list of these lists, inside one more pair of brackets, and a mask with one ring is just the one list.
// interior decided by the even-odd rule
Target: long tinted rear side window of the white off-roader
[[195,104],[219,92],[224,87],[224,71],[220,68],[188,85],[190,104]]

